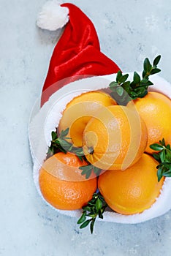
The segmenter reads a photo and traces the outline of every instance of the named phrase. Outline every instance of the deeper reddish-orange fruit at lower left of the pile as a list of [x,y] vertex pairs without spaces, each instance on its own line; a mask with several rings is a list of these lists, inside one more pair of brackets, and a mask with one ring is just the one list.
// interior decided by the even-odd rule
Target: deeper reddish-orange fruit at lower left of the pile
[[[76,210],[91,200],[96,191],[96,178],[86,180],[78,169],[82,165],[87,164],[75,154],[63,152],[45,161],[39,171],[39,187],[50,205],[61,210]],[[70,174],[73,170],[74,175]]]

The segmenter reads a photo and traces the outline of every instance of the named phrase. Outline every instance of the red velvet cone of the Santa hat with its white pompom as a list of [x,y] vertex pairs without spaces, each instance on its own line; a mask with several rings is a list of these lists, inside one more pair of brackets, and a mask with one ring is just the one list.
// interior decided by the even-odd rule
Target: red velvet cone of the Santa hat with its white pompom
[[62,86],[80,78],[110,75],[118,66],[100,51],[91,20],[74,4],[47,1],[37,19],[41,29],[54,31],[66,25],[50,60],[41,105]]

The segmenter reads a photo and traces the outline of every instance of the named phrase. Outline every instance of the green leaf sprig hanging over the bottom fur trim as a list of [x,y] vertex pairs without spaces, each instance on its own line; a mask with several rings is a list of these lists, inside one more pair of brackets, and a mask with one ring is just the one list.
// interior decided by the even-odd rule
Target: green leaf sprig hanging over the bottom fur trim
[[83,214],[81,215],[80,219],[78,219],[77,224],[80,224],[80,228],[90,225],[92,234],[94,232],[94,223],[96,221],[96,217],[103,219],[103,213],[106,207],[107,203],[100,192],[94,193],[87,206],[83,206]]

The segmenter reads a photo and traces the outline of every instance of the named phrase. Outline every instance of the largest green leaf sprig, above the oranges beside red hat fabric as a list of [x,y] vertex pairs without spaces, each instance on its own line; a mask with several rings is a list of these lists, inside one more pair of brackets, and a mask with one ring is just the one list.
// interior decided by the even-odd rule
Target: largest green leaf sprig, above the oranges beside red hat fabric
[[153,64],[148,58],[143,63],[142,78],[137,72],[134,72],[133,80],[127,80],[129,75],[123,75],[121,71],[118,71],[116,80],[110,83],[111,90],[110,95],[115,99],[119,105],[127,105],[132,99],[142,98],[148,94],[148,86],[152,86],[153,83],[149,80],[149,76],[160,72],[157,68],[161,56],[157,56],[153,60]]

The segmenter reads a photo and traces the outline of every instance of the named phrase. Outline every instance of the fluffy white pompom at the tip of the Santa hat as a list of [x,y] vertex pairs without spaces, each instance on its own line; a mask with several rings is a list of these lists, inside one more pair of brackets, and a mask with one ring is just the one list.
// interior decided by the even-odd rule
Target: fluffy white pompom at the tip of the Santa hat
[[69,9],[60,6],[61,1],[47,1],[37,18],[37,26],[41,29],[55,31],[61,29],[69,20]]

